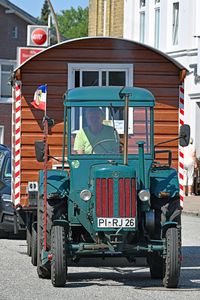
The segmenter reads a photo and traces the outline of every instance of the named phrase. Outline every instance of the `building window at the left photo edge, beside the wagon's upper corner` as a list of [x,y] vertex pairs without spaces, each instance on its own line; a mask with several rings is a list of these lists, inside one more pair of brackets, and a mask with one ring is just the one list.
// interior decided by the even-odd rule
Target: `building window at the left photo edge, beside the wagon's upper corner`
[[13,65],[7,65],[7,64],[1,64],[0,65],[0,97],[1,98],[10,98],[12,96],[12,88],[9,84],[10,81],[10,75],[13,71],[14,66]]

